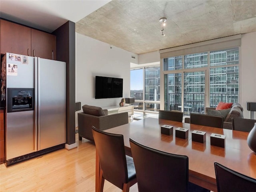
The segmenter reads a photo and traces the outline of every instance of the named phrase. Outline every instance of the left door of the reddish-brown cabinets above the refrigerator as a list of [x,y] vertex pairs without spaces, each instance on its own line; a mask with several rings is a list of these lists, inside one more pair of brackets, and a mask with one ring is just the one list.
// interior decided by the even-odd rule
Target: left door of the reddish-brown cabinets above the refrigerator
[[31,28],[1,20],[1,54],[31,56]]

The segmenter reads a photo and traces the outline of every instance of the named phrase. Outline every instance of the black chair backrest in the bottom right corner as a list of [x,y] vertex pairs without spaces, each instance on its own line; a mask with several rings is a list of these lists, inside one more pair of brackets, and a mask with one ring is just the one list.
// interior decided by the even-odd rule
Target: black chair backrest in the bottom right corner
[[214,163],[218,192],[255,192],[256,179],[240,174],[217,162]]

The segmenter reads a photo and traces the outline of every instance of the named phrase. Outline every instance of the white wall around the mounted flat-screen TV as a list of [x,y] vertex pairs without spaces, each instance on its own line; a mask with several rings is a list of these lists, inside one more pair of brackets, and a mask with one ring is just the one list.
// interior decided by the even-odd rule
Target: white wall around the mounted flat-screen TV
[[95,76],[123,78],[123,98],[130,97],[130,62],[134,54],[111,47],[76,33],[76,101],[81,106],[117,106],[121,101],[121,98],[95,99]]

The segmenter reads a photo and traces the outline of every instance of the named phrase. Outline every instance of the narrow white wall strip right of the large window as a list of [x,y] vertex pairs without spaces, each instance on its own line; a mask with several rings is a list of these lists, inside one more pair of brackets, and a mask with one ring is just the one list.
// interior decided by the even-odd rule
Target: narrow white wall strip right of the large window
[[[240,77],[244,118],[249,118],[246,102],[256,102],[256,32],[242,35]],[[256,112],[254,112],[254,119],[256,119]]]

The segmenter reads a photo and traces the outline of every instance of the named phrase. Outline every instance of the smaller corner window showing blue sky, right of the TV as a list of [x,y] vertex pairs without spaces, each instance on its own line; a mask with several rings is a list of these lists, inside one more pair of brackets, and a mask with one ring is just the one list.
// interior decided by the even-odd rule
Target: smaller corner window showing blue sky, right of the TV
[[160,109],[160,67],[132,69],[130,96],[135,98],[134,110],[158,112]]

